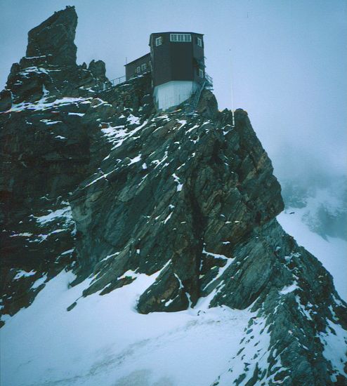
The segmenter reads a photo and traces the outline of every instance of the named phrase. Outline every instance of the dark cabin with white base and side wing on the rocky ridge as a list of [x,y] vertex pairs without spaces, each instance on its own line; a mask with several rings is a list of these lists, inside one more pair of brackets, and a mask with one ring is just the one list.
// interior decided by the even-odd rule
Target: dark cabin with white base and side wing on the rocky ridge
[[212,86],[205,74],[203,34],[157,32],[150,35],[149,45],[149,54],[125,66],[126,80],[149,69],[157,109],[179,105],[193,93]]

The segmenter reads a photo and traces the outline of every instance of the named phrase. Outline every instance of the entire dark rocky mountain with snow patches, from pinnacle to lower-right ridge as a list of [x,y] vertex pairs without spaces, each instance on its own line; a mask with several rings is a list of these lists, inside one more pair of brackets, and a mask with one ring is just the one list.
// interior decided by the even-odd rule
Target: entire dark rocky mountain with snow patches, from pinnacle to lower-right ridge
[[325,338],[343,345],[346,304],[277,223],[280,185],[247,113],[233,127],[204,91],[193,116],[157,114],[148,75],[100,91],[105,64],[76,65],[76,25],[70,7],[32,29],[1,93],[4,314],[62,269],[88,278],[84,297],[157,272],[141,314],[202,299],[256,313],[214,385],[346,384]]

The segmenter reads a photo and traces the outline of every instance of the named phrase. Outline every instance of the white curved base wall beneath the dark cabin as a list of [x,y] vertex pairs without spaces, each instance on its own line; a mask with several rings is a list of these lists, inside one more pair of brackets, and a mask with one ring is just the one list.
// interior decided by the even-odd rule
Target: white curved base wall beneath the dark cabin
[[166,110],[169,107],[180,105],[190,98],[190,95],[197,90],[198,84],[195,81],[169,81],[160,86],[155,86],[155,105],[159,110]]

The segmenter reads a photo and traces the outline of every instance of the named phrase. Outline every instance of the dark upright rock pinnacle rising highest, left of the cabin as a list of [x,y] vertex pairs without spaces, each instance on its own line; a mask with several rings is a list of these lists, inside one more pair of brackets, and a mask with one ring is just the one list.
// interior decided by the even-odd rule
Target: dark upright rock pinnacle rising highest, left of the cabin
[[28,33],[27,57],[46,56],[57,65],[76,65],[76,27],[74,6],[55,12]]

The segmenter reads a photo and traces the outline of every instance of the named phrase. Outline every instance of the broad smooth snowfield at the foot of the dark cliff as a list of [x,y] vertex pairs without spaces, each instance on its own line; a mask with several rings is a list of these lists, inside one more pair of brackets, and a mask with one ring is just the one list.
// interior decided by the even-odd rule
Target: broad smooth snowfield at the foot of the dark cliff
[[138,314],[136,298],[157,274],[80,298],[70,312],[90,279],[69,288],[74,274],[63,271],[48,281],[1,328],[1,385],[211,385],[254,314],[207,309],[207,299],[183,312]]

